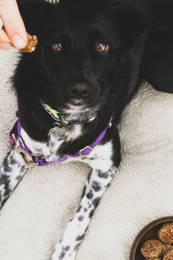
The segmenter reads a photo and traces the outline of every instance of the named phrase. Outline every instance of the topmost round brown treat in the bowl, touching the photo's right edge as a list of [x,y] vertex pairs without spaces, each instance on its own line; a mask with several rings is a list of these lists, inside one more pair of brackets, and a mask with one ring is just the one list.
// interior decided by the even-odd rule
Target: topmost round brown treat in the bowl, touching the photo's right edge
[[162,243],[173,243],[173,222],[165,223],[162,228],[157,232],[157,235]]

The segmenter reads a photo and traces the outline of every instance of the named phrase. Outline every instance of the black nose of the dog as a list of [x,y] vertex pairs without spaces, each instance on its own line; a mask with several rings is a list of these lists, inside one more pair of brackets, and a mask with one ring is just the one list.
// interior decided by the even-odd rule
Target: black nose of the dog
[[73,99],[84,99],[91,92],[91,84],[87,81],[71,81],[67,84],[67,92]]

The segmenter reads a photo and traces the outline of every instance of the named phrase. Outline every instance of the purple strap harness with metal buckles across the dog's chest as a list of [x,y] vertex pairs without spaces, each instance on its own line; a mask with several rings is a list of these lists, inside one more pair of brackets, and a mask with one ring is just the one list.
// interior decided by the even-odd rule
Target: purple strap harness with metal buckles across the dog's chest
[[[18,116],[18,112],[16,112],[16,116]],[[54,163],[66,161],[69,158],[75,158],[75,157],[79,157],[79,156],[87,156],[87,155],[89,155],[91,153],[91,151],[93,150],[93,148],[97,144],[99,144],[99,142],[103,139],[107,129],[111,127],[111,125],[112,125],[111,121],[112,121],[112,117],[111,117],[110,121],[108,122],[108,126],[99,135],[99,137],[95,140],[95,142],[93,142],[93,144],[91,144],[90,146],[84,147],[78,153],[75,153],[73,155],[68,155],[68,156],[64,155],[62,158],[59,158],[59,159],[57,159],[55,161],[47,162],[46,159],[42,158],[42,156],[37,156],[37,155],[33,154],[30,151],[29,147],[22,140],[21,126],[20,126],[19,120],[16,121],[16,123],[14,124],[12,130],[10,131],[10,145],[13,146],[15,148],[16,152],[21,155],[21,158],[24,160],[24,163],[25,163],[26,167],[29,166],[29,165],[30,165],[30,167],[28,167],[28,168],[31,168],[31,166],[34,166],[34,165],[37,165],[37,166],[47,166],[49,164],[54,164]],[[14,137],[14,130],[16,129],[16,127],[17,127],[18,137],[19,137],[19,146],[16,145],[16,141],[15,141],[15,137]],[[26,158],[24,158],[24,157],[26,157],[26,155],[31,158],[31,161],[27,160],[27,163],[26,163]]]

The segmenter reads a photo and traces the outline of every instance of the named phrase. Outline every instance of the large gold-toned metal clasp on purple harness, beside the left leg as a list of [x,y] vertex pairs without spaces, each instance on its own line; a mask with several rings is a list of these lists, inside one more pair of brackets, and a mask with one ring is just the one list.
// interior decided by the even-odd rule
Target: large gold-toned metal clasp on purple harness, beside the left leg
[[[14,138],[14,140],[16,141],[15,135],[14,133],[12,133],[12,137]],[[23,164],[25,165],[26,168],[31,168],[33,166],[39,165],[39,163],[35,163],[33,162],[33,159],[31,157],[31,155],[29,155],[26,151],[25,151],[25,145],[22,141],[22,138],[19,138],[20,142],[22,143],[23,148],[20,148],[17,144],[14,146],[14,150],[16,151],[16,153],[18,153],[20,155],[20,158],[23,161]]]

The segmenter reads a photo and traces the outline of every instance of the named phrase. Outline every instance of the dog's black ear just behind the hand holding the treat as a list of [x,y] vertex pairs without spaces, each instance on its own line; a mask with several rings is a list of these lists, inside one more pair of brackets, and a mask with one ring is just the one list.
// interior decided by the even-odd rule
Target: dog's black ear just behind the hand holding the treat
[[54,5],[44,0],[17,0],[26,31],[37,37],[52,14]]

